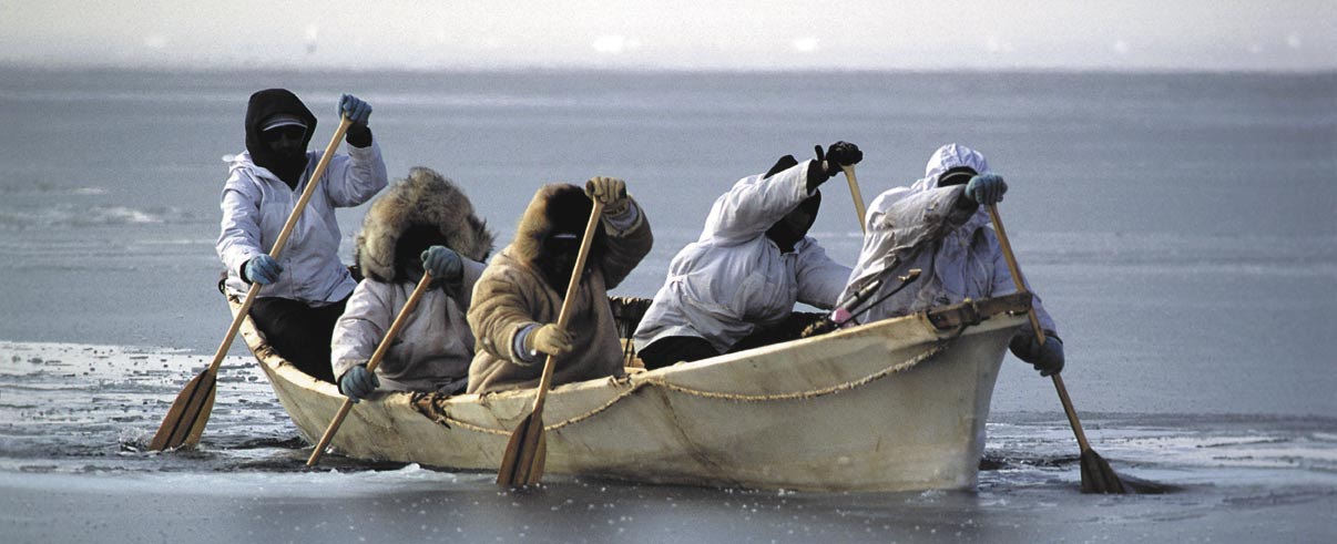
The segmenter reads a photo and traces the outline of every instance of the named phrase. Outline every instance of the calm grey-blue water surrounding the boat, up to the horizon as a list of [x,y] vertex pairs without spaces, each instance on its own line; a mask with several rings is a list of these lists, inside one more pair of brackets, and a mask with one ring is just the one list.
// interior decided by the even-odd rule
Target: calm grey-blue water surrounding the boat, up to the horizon
[[[241,346],[202,452],[140,453],[227,326],[213,286],[222,158],[242,151],[247,95],[275,86],[321,118],[316,146],[340,92],[370,102],[390,175],[452,176],[500,239],[539,183],[627,179],[656,243],[615,294],[652,294],[710,202],[781,154],[858,143],[872,200],[939,144],[972,146],[1009,180],[1000,210],[1096,449],[1179,491],[1078,496],[1052,388],[1011,358],[976,493],[555,479],[516,497],[487,474],[337,457],[338,472],[309,473]],[[234,540],[1324,540],[1337,535],[1334,90],[1337,75],[0,70],[0,511],[13,512],[0,527],[23,541],[164,540],[185,520]],[[849,262],[853,206],[844,180],[825,190],[814,234]],[[345,258],[361,215],[341,215]],[[52,525],[68,503],[80,523]]]

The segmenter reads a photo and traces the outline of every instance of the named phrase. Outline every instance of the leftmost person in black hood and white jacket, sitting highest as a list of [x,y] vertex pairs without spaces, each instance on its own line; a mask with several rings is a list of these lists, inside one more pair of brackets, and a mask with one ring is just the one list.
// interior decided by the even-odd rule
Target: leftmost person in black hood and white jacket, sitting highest
[[386,186],[381,150],[366,122],[372,107],[342,95],[338,114],[353,122],[348,154],[336,155],[278,259],[269,255],[293,207],[310,183],[321,151],[306,147],[316,115],[291,91],[253,94],[246,106],[246,151],[231,162],[223,186],[218,257],[227,293],[263,287],[250,315],[265,338],[302,372],[333,382],[330,334],[357,285],[338,259],[342,238],[334,209],[358,206]]

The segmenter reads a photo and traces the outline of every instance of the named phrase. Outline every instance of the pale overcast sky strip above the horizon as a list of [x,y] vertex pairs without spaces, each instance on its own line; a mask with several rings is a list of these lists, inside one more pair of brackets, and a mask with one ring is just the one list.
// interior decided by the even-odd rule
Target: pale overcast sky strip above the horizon
[[0,64],[1313,71],[1337,0],[0,0]]

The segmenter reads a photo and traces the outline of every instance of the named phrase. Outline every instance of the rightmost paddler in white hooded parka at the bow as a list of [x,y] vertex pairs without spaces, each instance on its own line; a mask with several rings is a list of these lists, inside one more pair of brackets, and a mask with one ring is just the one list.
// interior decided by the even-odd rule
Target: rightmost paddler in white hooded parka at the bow
[[[890,188],[868,206],[864,249],[840,299],[884,279],[865,298],[872,307],[849,309],[866,310],[861,322],[872,322],[967,298],[1016,293],[985,207],[1001,202],[1004,192],[1007,183],[989,171],[980,152],[955,143],[937,148],[924,167],[923,179],[910,187]],[[885,278],[904,275],[910,269],[924,270],[924,277],[890,294],[900,283]],[[1063,341],[1039,295],[1032,305],[1046,342],[1042,346],[1027,323],[1012,337],[1011,348],[1040,376],[1050,376],[1063,370]]]

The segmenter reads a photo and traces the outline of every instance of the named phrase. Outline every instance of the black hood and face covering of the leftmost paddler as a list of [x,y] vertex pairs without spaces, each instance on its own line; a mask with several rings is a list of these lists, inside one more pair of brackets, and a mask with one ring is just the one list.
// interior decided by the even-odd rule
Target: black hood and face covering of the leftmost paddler
[[[261,131],[265,122],[279,114],[303,120],[306,128],[303,130],[301,142],[289,143],[287,146],[274,146],[278,138],[266,134],[273,131]],[[286,128],[278,127],[274,131],[283,131]],[[255,166],[274,172],[278,179],[282,179],[291,188],[297,188],[297,183],[306,171],[306,146],[310,143],[312,134],[314,132],[316,115],[291,91],[267,88],[250,96],[250,102],[246,106],[246,151],[250,151]]]

